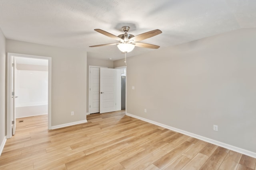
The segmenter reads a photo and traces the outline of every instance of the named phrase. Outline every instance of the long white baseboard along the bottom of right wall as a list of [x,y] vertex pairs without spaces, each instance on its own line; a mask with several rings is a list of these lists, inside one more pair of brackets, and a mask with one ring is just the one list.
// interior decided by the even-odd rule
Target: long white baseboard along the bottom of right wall
[[202,141],[206,141],[206,142],[208,142],[208,143],[212,143],[212,144],[214,144],[214,145],[218,145],[218,146],[223,147],[223,148],[226,148],[226,149],[234,150],[234,151],[236,151],[236,152],[239,152],[239,153],[241,153],[241,154],[245,154],[245,155],[247,155],[247,156],[251,156],[251,157],[253,157],[253,158],[256,158],[256,153],[255,153],[255,152],[251,152],[251,151],[249,151],[249,150],[245,150],[245,149],[238,148],[238,147],[235,147],[235,146],[232,146],[232,145],[228,145],[228,144],[226,144],[226,143],[222,143],[222,142],[219,142],[219,141],[215,141],[215,140],[209,139],[209,138],[207,138],[207,137],[203,137],[203,136],[200,136],[200,135],[196,135],[196,134],[190,133],[190,132],[188,132],[188,131],[184,131],[184,130],[181,130],[181,129],[177,129],[177,128],[175,128],[175,127],[171,127],[171,126],[168,126],[168,125],[164,125],[164,124],[158,123],[158,122],[156,122],[156,121],[152,121],[152,120],[149,120],[149,119],[145,119],[145,118],[143,118],[143,117],[139,117],[139,116],[136,116],[136,115],[132,115],[132,114],[127,113],[127,112],[126,112],[126,115],[131,116],[131,117],[134,117],[134,118],[136,118],[136,119],[140,119],[140,120],[146,121],[146,122],[148,122],[148,123],[152,123],[152,124],[154,124],[154,125],[158,125],[158,126],[160,126],[160,127],[164,127],[164,128],[166,128],[166,129],[170,129],[170,130],[172,130],[172,131],[176,131],[176,132],[178,132],[178,133],[182,133],[182,134],[184,134],[184,135],[188,135],[188,136],[190,136],[190,137],[194,137],[194,138],[196,138],[196,139],[200,139],[200,140],[202,140]]

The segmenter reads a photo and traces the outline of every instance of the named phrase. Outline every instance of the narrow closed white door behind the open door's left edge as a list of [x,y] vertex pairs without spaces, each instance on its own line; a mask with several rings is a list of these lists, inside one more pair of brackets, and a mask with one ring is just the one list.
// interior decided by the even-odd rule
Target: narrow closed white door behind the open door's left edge
[[90,67],[90,114],[100,112],[100,68]]

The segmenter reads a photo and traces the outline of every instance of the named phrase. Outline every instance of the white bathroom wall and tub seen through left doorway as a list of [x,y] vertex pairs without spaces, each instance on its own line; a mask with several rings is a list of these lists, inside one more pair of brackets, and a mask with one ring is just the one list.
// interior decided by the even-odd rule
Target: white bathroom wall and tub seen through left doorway
[[27,64],[26,67],[24,64],[17,64],[16,68],[18,68],[15,71],[15,92],[18,96],[16,117],[47,114],[48,71],[38,71],[35,70],[35,65]]

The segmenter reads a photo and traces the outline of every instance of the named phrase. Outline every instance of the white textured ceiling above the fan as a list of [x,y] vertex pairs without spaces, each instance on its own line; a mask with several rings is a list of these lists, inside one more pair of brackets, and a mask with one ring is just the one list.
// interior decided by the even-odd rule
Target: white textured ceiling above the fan
[[[248,27],[256,27],[256,0],[0,0],[0,28],[7,39],[83,48],[88,57],[121,59],[114,35],[121,27],[138,35],[163,33],[141,42],[160,48]],[[135,47],[128,56],[151,50]]]

